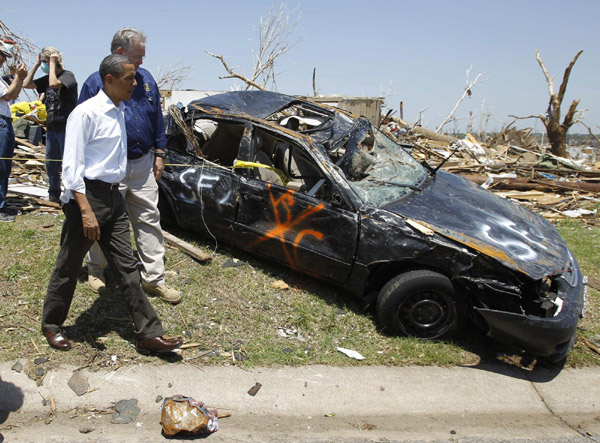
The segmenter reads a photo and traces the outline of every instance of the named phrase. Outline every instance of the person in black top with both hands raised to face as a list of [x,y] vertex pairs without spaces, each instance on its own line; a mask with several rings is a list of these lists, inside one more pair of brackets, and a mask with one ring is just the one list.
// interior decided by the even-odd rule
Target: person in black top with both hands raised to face
[[[46,75],[33,80],[41,66]],[[63,68],[60,52],[52,46],[46,46],[38,55],[37,61],[29,71],[23,84],[24,88],[36,89],[43,94],[42,103],[46,105],[46,172],[48,173],[48,198],[54,203],[60,202],[60,171],[65,148],[65,127],[67,118],[77,105],[77,80],[71,71]]]

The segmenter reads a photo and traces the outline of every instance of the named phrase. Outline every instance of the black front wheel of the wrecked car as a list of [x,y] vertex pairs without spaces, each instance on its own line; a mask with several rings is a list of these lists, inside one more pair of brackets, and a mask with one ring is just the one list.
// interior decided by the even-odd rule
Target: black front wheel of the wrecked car
[[466,304],[448,277],[428,270],[391,279],[377,298],[379,324],[393,334],[449,338],[464,325]]

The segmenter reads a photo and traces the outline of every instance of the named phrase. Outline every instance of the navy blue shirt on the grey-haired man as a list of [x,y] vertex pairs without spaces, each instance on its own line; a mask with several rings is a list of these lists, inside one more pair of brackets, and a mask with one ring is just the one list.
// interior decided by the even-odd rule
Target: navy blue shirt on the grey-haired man
[[[138,68],[135,79],[137,86],[131,100],[124,101],[125,125],[127,126],[127,158],[136,159],[152,147],[167,148],[165,122],[160,107],[160,93],[152,74]],[[88,77],[79,93],[79,103],[95,96],[102,89],[99,72]]]

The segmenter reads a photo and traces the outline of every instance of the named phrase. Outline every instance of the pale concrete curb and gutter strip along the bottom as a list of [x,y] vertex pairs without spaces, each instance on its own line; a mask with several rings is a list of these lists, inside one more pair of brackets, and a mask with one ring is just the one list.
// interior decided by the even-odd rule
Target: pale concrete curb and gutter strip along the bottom
[[[77,396],[68,385],[74,367],[48,369],[37,386],[12,365],[0,364],[0,411],[8,412],[0,412],[0,442],[164,441],[160,406],[174,394],[232,413],[211,441],[600,442],[598,368],[144,365],[82,369],[89,389]],[[111,423],[113,404],[126,399],[137,399],[139,415]]]

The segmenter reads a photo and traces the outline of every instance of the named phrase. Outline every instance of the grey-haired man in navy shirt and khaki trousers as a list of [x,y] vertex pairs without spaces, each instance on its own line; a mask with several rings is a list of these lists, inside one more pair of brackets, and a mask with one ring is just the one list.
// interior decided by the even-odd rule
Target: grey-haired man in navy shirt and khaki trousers
[[[164,237],[158,211],[157,180],[163,173],[167,139],[160,106],[158,86],[152,75],[141,68],[146,56],[146,36],[134,28],[123,28],[113,37],[111,53],[125,55],[135,65],[137,87],[125,104],[127,127],[127,174],[120,191],[127,203],[127,212],[142,271],[142,287],[169,303],[179,303],[181,293],[165,283]],[[93,97],[102,88],[98,72],[83,84],[79,103]],[[153,149],[154,148],[154,149]],[[95,244],[88,254],[88,283],[92,290],[104,290],[106,260]]]

